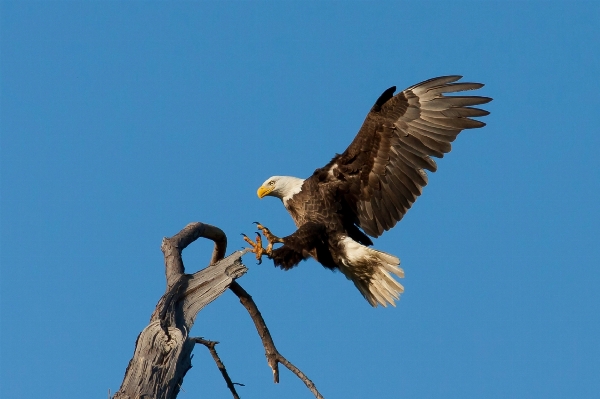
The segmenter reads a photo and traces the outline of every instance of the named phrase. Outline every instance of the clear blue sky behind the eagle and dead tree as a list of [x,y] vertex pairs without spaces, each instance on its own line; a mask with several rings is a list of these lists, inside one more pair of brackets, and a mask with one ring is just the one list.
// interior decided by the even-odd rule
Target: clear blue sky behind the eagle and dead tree
[[[325,398],[600,392],[600,2],[2,2],[1,396],[106,398],[164,292],[162,237],[231,252],[294,229],[271,175],[342,152],[386,88],[461,74],[494,101],[407,216],[396,308],[309,260],[244,258],[280,352]],[[204,268],[212,243],[184,251]],[[224,293],[192,334],[242,398],[274,385]],[[230,398],[204,347],[180,398]]]

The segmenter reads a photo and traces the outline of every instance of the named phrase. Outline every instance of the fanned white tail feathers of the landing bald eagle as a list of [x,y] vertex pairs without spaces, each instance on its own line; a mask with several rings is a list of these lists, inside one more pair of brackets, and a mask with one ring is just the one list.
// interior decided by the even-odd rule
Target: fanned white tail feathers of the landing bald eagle
[[349,237],[342,239],[344,259],[340,264],[341,272],[352,280],[365,299],[376,307],[396,306],[404,287],[391,274],[404,277],[399,267],[400,259],[394,255],[361,245]]

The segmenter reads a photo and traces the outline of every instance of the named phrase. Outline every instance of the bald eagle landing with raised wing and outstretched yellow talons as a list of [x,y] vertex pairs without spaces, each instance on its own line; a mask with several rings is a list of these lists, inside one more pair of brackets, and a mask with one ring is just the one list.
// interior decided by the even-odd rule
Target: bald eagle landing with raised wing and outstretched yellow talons
[[[402,219],[427,185],[425,170],[435,172],[431,156],[450,152],[450,143],[463,129],[485,126],[470,119],[489,112],[471,106],[488,97],[445,96],[475,90],[480,83],[455,83],[462,76],[442,76],[416,84],[394,95],[390,87],[377,99],[358,134],[342,154],[307,179],[268,178],[258,197],[281,199],[297,230],[283,238],[258,225],[260,234],[252,252],[289,270],[314,258],[324,267],[340,270],[372,305],[395,306],[404,291],[393,277],[404,277],[400,260],[370,248]],[[273,244],[283,243],[279,248]]]

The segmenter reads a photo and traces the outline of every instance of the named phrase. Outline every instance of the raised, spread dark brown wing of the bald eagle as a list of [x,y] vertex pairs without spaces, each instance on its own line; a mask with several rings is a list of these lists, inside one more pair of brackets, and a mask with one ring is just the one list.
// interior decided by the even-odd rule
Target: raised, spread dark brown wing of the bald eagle
[[430,79],[396,95],[395,87],[386,90],[346,151],[315,171],[368,235],[378,237],[402,219],[427,184],[424,169],[437,169],[431,156],[449,152],[463,129],[485,126],[469,117],[489,112],[470,106],[491,98],[444,95],[483,86],[453,83],[460,78]]

